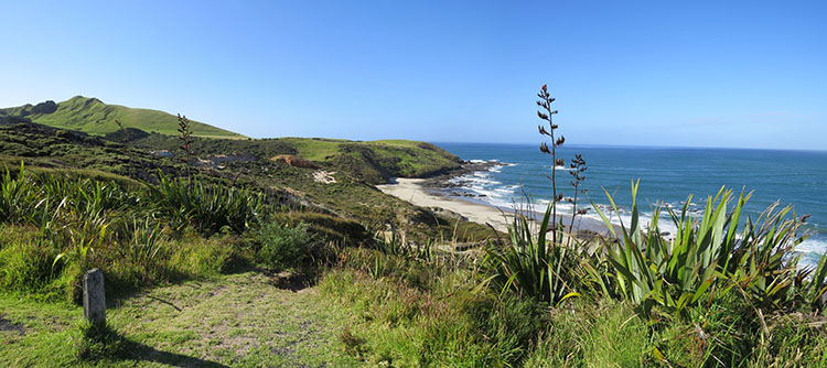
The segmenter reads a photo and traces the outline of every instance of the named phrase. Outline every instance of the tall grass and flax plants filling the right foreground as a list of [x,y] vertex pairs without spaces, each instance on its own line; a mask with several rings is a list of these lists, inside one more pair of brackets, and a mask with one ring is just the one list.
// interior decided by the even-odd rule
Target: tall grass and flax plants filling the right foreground
[[798,219],[739,220],[748,199],[722,191],[698,218],[673,213],[666,248],[635,206],[593,252],[524,221],[483,259],[350,249],[320,292],[347,309],[340,339],[366,366],[821,367],[825,258],[799,270]]

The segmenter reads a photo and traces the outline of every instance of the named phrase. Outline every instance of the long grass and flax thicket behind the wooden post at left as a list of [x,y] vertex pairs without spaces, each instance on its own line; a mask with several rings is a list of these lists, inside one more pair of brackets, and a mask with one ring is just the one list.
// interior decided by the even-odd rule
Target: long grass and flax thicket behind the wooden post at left
[[110,292],[125,292],[215,275],[243,258],[240,235],[261,213],[258,196],[159,181],[135,187],[28,172],[24,164],[15,174],[7,169],[0,177],[0,289],[77,301],[80,273],[90,268],[107,273]]

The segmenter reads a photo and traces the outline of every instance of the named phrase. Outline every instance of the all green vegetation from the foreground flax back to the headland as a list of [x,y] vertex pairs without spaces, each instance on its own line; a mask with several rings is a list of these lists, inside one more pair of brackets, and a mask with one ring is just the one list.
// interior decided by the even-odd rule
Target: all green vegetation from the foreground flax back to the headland
[[[554,99],[545,86],[539,96],[541,150],[562,165]],[[454,167],[425,143],[194,138],[178,160],[175,137],[11,123],[0,361],[12,366],[827,366],[827,257],[802,268],[803,219],[790,207],[750,218],[745,193],[722,188],[698,215],[656,207],[642,224],[633,183],[631,221],[600,213],[611,236],[580,240],[552,180],[544,218],[517,214],[502,235],[376,191],[389,175]],[[191,160],[219,154],[245,159]],[[66,170],[87,163],[98,165]],[[584,159],[571,167],[582,193]],[[95,267],[103,329],[78,322],[79,278]]]

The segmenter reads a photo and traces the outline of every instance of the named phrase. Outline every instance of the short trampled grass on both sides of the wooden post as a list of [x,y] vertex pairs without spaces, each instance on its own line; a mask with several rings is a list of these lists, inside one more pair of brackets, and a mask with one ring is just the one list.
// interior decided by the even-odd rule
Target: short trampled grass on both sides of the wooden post
[[158,288],[109,306],[117,348],[79,360],[82,309],[0,294],[0,365],[359,366],[337,338],[345,316],[326,303],[315,289],[294,292],[259,272]]

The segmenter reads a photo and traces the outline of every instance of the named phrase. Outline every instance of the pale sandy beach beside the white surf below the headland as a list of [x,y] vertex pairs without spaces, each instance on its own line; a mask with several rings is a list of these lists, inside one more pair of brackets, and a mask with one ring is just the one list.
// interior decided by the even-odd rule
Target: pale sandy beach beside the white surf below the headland
[[425,178],[396,178],[396,184],[377,185],[382,192],[408,201],[421,207],[439,207],[453,212],[465,219],[479,224],[491,224],[495,229],[507,232],[507,213],[496,207],[428,193],[422,186]]

